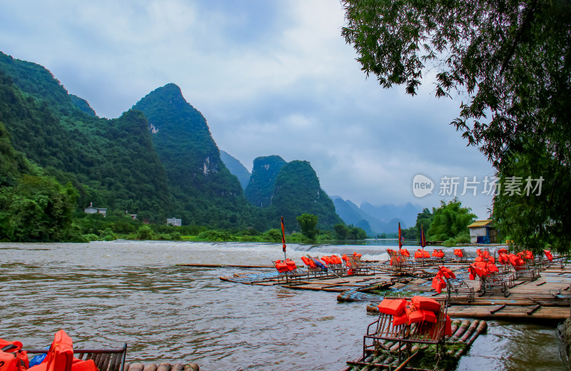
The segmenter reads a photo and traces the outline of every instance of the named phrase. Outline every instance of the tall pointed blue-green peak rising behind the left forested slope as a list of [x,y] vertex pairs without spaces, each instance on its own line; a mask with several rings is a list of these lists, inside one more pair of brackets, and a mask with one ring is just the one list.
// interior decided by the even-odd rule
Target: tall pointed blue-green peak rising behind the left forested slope
[[176,199],[177,218],[224,227],[249,219],[238,179],[222,162],[206,118],[184,99],[181,88],[169,83],[133,108],[153,127],[154,148]]

